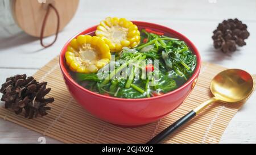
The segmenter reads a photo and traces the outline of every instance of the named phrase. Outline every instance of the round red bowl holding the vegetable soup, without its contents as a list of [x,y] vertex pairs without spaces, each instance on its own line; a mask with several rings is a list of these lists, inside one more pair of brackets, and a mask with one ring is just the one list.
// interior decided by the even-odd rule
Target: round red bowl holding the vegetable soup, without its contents
[[105,95],[94,93],[84,89],[75,82],[68,74],[67,66],[65,65],[65,51],[69,41],[79,35],[94,35],[97,26],[90,27],[85,31],[75,35],[63,47],[60,53],[60,69],[63,73],[64,81],[69,92],[92,115],[106,122],[123,125],[136,126],[154,122],[170,114],[187,98],[193,87],[196,79],[199,76],[201,67],[201,58],[199,51],[195,45],[181,33],[172,30],[171,28],[160,26],[154,23],[133,21],[139,28],[150,28],[151,30],[163,32],[164,35],[176,37],[185,41],[191,51],[197,57],[197,66],[192,77],[188,79],[184,85],[170,93],[160,95],[158,97],[142,98],[142,99],[123,99],[108,97]]

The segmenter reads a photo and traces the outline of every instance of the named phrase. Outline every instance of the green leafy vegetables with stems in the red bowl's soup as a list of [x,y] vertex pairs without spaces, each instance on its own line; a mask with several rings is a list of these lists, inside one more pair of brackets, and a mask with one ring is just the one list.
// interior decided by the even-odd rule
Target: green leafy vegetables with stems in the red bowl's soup
[[[192,76],[196,56],[184,41],[145,30],[141,31],[141,39],[146,39],[146,43],[141,41],[136,48],[124,47],[115,53],[115,61],[105,67],[118,65],[107,72],[108,78],[100,79],[99,73],[71,73],[71,76],[86,89],[118,98],[149,98],[154,93],[168,93]],[[146,64],[153,66],[151,76],[143,72],[148,69]],[[117,74],[126,77],[117,77]]]

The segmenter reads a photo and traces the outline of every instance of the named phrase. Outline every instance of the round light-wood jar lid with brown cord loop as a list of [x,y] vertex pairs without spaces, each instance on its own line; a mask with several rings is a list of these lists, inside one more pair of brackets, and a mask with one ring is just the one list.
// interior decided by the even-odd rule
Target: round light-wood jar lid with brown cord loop
[[[39,37],[48,3],[59,12],[61,31],[75,15],[79,0],[13,0],[11,5],[15,22],[24,32]],[[44,36],[55,34],[56,28],[57,15],[50,9]]]

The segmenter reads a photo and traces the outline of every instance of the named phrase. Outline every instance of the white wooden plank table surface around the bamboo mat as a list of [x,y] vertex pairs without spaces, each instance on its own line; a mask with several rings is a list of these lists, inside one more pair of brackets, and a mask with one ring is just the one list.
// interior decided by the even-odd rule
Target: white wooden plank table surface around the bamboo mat
[[[77,32],[98,24],[106,16],[142,20],[168,26],[183,33],[195,43],[203,61],[227,68],[245,69],[256,74],[256,1],[85,1],[80,0],[77,14],[59,33],[56,43],[42,49],[35,37],[19,33],[0,39],[0,83],[15,74],[31,76],[59,55],[64,43]],[[216,52],[212,45],[212,31],[223,19],[238,18],[250,32],[247,45],[231,55]],[[0,36],[1,33],[0,33]],[[45,41],[53,39],[48,37]],[[220,143],[256,143],[256,93],[234,116]],[[2,104],[2,103],[0,103]],[[39,133],[0,119],[0,143],[39,143]],[[46,143],[59,143],[46,137]]]

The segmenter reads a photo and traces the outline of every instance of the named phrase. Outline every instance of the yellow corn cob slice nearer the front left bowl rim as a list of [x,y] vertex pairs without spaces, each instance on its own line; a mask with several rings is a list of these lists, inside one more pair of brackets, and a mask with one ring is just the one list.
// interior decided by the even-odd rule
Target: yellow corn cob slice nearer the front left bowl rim
[[72,39],[65,52],[66,64],[73,72],[95,73],[109,63],[108,44],[98,36],[79,35]]

